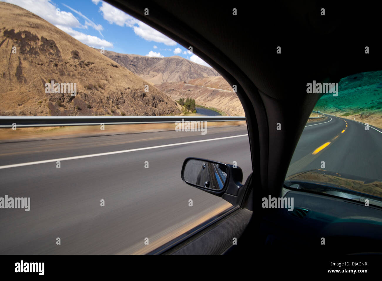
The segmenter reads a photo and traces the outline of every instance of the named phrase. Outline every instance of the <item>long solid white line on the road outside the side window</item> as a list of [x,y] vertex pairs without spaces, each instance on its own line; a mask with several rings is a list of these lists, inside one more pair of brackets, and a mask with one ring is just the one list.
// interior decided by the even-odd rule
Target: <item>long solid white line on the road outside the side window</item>
[[72,157],[65,157],[65,158],[49,159],[49,160],[42,160],[42,161],[25,162],[25,163],[19,163],[19,164],[0,166],[0,169],[7,169],[7,168],[13,168],[13,167],[28,166],[28,165],[36,165],[36,164],[43,164],[43,163],[56,162],[56,161],[65,161],[65,160],[74,160],[74,159],[81,159],[81,158],[88,158],[88,157],[104,156],[104,155],[111,155],[111,154],[118,154],[118,153],[126,153],[126,152],[140,151],[140,150],[147,150],[147,149],[154,149],[154,148],[162,148],[162,147],[168,147],[168,146],[188,145],[190,143],[201,143],[204,141],[225,140],[227,138],[238,138],[240,136],[248,136],[248,134],[236,135],[236,136],[224,136],[222,138],[210,138],[208,140],[186,141],[185,143],[172,143],[170,145],[157,145],[157,146],[149,146],[149,147],[142,147],[142,148],[127,149],[127,150],[111,151],[111,152],[104,152],[104,153],[96,153],[96,154],[87,154],[87,155],[72,156]]

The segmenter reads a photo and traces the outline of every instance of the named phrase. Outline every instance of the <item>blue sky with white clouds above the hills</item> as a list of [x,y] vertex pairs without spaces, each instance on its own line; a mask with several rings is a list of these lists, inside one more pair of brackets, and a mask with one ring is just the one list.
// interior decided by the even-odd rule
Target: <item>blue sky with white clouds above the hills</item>
[[31,11],[90,47],[151,57],[178,55],[209,66],[172,39],[101,0],[2,1]]

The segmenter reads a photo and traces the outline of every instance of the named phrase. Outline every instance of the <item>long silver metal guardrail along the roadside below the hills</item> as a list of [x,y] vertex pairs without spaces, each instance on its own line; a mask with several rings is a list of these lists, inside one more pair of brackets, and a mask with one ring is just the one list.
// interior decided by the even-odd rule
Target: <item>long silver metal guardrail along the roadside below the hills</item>
[[243,116],[1,116],[0,128],[55,127],[83,125],[117,125],[145,123],[175,123],[191,121],[246,121]]

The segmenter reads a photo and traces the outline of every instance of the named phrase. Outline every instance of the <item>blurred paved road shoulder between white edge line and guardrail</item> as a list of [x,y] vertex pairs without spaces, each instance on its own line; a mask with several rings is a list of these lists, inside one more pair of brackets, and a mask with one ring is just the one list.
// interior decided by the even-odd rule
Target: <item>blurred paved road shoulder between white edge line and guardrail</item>
[[201,135],[201,132],[160,131],[103,136],[89,135],[76,138],[69,136],[32,141],[3,141],[0,143],[0,166],[242,134],[247,134],[246,128],[227,126],[207,127],[206,135]]

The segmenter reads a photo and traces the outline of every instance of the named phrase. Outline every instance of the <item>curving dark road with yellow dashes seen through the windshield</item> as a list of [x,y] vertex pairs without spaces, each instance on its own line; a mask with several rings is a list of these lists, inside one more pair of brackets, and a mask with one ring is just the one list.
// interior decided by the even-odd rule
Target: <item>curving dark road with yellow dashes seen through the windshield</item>
[[[330,122],[305,127],[287,175],[322,169],[369,179],[382,179],[382,130],[328,115]],[[309,124],[307,124],[309,125]],[[372,127],[378,129],[375,130]],[[316,154],[314,151],[330,142]]]

